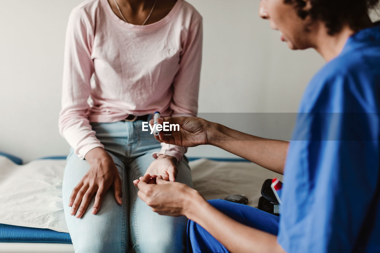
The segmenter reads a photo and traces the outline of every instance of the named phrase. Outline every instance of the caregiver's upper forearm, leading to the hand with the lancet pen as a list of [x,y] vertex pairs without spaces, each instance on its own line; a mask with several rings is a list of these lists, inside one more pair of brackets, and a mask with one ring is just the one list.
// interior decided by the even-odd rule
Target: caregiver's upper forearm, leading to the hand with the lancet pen
[[289,142],[253,136],[217,123],[211,123],[207,136],[207,144],[283,174]]

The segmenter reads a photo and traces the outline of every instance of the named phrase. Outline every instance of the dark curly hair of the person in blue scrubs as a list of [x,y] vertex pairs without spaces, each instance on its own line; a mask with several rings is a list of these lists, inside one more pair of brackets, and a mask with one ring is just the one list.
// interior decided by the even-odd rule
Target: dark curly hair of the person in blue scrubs
[[304,10],[304,0],[284,0],[285,3],[295,6],[298,16],[306,19],[325,22],[328,34],[334,35],[340,32],[344,24],[348,24],[353,30],[360,30],[366,14],[370,9],[378,6],[380,0],[310,0],[310,10]]

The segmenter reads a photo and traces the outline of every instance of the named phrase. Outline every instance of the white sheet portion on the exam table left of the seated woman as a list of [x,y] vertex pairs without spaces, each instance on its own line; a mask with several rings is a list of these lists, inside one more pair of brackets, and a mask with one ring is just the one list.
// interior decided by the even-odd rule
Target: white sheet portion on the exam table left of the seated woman
[[68,232],[62,204],[65,160],[14,164],[0,156],[0,223]]

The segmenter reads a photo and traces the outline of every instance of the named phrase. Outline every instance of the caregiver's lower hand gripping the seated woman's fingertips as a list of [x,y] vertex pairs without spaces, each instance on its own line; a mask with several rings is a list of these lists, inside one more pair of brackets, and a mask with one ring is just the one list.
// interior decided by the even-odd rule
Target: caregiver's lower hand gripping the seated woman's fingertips
[[168,216],[188,216],[198,201],[206,201],[201,194],[184,183],[169,182],[157,177],[154,183],[146,174],[133,183],[139,188],[137,195],[154,212]]

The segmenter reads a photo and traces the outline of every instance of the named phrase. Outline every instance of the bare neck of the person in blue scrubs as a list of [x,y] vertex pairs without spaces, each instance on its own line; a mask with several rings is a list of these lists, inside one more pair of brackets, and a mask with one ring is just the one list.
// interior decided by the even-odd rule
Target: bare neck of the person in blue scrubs
[[314,40],[314,49],[322,55],[326,62],[337,57],[340,52],[342,52],[344,45],[346,44],[348,38],[351,35],[358,32],[361,29],[371,27],[373,24],[369,19],[363,19],[363,25],[358,30],[353,30],[348,24],[344,25],[340,32],[335,33],[334,35],[328,34],[328,29],[326,25],[322,22],[318,25],[317,33]]

